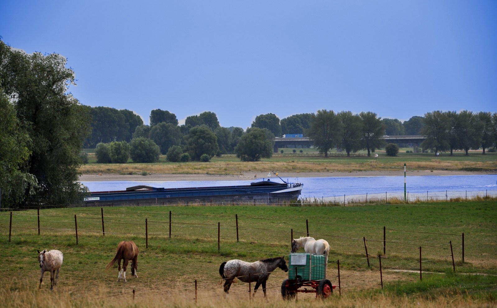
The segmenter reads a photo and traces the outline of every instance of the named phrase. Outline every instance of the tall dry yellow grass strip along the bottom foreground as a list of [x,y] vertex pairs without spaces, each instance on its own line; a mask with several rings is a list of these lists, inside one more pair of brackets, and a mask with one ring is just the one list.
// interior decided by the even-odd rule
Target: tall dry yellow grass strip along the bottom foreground
[[[303,295],[303,294],[301,294]],[[199,293],[195,303],[194,293],[151,293],[137,292],[135,299],[131,290],[123,289],[121,295],[106,296],[104,287],[98,292],[86,290],[37,290],[35,284],[15,284],[12,282],[0,285],[0,307],[17,308],[113,308],[113,307],[149,307],[149,308],[446,308],[446,307],[497,307],[492,298],[475,298],[471,296],[439,295],[434,298],[423,296],[394,296],[388,294],[348,294],[341,297],[334,294],[326,300],[317,300],[313,296],[305,298],[299,295],[298,301],[283,301],[279,295],[269,295],[266,299],[261,294],[248,301],[248,294],[213,295]]]

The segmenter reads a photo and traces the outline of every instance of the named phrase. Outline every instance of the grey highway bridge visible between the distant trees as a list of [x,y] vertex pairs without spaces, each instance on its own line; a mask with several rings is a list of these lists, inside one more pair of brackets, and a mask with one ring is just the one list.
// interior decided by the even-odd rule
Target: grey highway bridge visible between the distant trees
[[[413,151],[419,147],[426,137],[421,135],[404,135],[404,136],[383,136],[387,143],[412,143]],[[274,153],[278,153],[278,149],[282,148],[312,148],[314,141],[308,137],[290,137],[290,138],[274,138]]]

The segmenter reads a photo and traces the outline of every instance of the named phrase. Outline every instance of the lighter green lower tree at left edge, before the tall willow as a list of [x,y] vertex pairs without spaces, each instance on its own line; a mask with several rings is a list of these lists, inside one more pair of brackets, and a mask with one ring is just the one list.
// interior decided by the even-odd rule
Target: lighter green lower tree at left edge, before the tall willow
[[19,129],[14,105],[0,88],[0,189],[4,208],[16,208],[28,194],[35,192],[37,180],[32,174],[23,172],[21,164],[31,154],[27,144],[29,136]]

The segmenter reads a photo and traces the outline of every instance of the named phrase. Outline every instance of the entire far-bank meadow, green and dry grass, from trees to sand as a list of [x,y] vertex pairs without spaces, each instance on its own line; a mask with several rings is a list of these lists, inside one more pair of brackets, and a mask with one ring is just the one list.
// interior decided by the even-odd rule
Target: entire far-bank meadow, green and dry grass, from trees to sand
[[[290,149],[286,149],[290,150]],[[313,149],[306,149],[313,150]],[[468,156],[464,152],[455,152],[453,156],[442,153],[438,158],[433,153],[404,153],[387,156],[382,151],[377,159],[361,156],[347,157],[345,154],[333,154],[330,157],[306,152],[304,154],[274,154],[272,158],[257,162],[242,162],[235,155],[213,157],[211,162],[167,162],[164,155],[157,163],[133,163],[131,159],[125,164],[99,164],[94,154],[89,155],[89,162],[80,170],[83,174],[91,173],[207,173],[207,174],[241,174],[243,172],[333,172],[362,170],[402,170],[407,163],[409,170],[497,170],[497,153],[482,155],[481,151],[472,151]]]

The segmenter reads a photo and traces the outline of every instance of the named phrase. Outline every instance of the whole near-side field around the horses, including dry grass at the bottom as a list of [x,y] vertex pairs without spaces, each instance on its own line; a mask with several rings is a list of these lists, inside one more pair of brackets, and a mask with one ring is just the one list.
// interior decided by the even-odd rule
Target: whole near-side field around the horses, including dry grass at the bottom
[[[248,298],[248,286],[244,283],[235,283],[228,299],[224,299],[219,285],[221,262],[287,255],[290,230],[293,229],[294,237],[305,236],[306,220],[311,236],[330,242],[328,278],[333,284],[337,284],[335,262],[340,259],[344,296],[333,298],[327,307],[370,307],[373,303],[379,303],[379,307],[405,307],[415,306],[417,302],[421,307],[495,305],[492,299],[497,296],[496,276],[463,273],[497,275],[496,205],[496,201],[471,201],[347,207],[110,207],[104,208],[105,236],[101,233],[100,208],[41,210],[41,235],[37,234],[36,210],[30,210],[13,213],[11,242],[8,242],[9,216],[2,212],[0,299],[3,300],[0,300],[0,306],[30,306],[32,301],[26,299],[39,299],[42,301],[36,304],[39,307],[115,307],[117,303],[141,307],[155,307],[159,303],[167,307],[193,307],[193,282],[197,279],[199,297],[208,297],[199,306],[319,307],[324,304],[312,304],[316,303],[312,294],[299,294],[300,304],[285,305],[279,295],[279,286],[286,273],[279,269],[268,281],[269,302],[261,300],[261,290],[257,293],[257,301],[251,304],[240,301]],[[169,211],[172,213],[171,238],[168,237]],[[239,242],[235,214],[238,215]],[[146,218],[148,248],[145,248]],[[221,226],[220,250],[217,246],[218,222]],[[368,239],[371,256],[382,253],[383,226],[387,228],[387,258],[382,259],[385,284],[382,292],[378,259],[371,257],[371,266],[367,266],[362,238]],[[460,234],[463,232],[465,263],[461,261]],[[123,239],[134,240],[140,249],[139,278],[128,273],[128,282],[118,283],[117,269],[104,271],[104,268],[114,256],[117,243]],[[449,241],[453,244],[456,275],[451,271]],[[434,274],[423,273],[423,281],[419,282],[419,273],[391,271],[418,270],[419,246],[422,246],[423,271]],[[55,297],[48,296],[51,293],[47,276],[42,290],[36,291],[39,280],[37,249],[59,249],[64,253],[59,286],[53,293]],[[136,302],[131,300],[132,289],[136,290]],[[119,294],[123,296],[106,298]],[[45,305],[43,301],[49,304]]]

